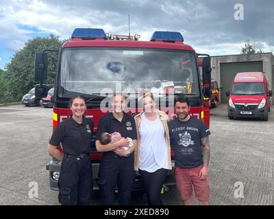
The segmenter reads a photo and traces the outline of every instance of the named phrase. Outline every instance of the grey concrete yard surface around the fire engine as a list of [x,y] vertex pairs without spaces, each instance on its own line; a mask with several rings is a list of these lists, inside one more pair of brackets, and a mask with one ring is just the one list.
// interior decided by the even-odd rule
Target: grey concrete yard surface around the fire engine
[[[210,114],[210,204],[274,205],[273,107],[268,122],[229,120],[226,105]],[[0,121],[0,205],[58,205],[45,170],[52,109],[0,107]],[[141,195],[132,196],[134,205],[145,205]],[[163,199],[165,205],[182,205],[175,188]],[[98,204],[96,195],[92,205]]]

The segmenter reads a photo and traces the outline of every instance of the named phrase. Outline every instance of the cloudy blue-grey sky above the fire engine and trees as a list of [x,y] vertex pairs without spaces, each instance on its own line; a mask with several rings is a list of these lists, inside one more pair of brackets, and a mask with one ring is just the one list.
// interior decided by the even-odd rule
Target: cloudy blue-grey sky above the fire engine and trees
[[[272,0],[0,0],[0,68],[27,40],[55,34],[69,38],[75,27],[103,28],[149,40],[153,31],[180,31],[199,53],[238,54],[244,41],[274,52]],[[241,4],[242,7],[238,7]],[[243,12],[243,14],[241,13]],[[237,18],[237,19],[236,19]]]

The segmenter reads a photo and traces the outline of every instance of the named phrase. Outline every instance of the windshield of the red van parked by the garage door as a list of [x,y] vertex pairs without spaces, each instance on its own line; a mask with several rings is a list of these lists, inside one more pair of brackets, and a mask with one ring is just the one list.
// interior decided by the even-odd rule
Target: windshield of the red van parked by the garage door
[[234,83],[232,87],[232,94],[234,95],[264,94],[264,83],[261,83],[261,82]]

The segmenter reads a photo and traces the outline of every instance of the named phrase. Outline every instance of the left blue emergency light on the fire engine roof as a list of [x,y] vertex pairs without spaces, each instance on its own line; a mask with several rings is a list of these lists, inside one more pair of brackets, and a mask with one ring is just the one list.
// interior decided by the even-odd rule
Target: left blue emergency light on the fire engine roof
[[105,40],[108,39],[103,29],[95,28],[76,28],[73,31],[73,35],[71,36],[71,38],[73,39],[75,37],[83,38],[86,40],[92,40],[95,38],[103,38]]

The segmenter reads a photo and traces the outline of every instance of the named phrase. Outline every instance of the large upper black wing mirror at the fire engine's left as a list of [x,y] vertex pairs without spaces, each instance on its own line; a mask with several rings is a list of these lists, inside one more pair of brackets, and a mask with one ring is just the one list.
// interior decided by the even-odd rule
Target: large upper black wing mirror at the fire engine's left
[[34,79],[40,81],[40,85],[47,80],[47,53],[35,54]]

